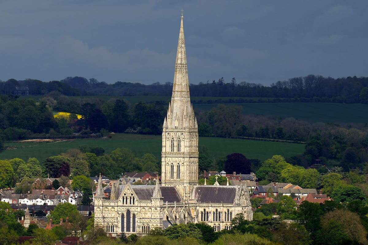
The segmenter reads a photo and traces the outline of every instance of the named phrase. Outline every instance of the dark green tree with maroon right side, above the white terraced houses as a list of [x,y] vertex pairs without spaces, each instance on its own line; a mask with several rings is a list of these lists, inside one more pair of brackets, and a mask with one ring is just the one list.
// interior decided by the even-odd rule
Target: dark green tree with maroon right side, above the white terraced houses
[[69,176],[71,161],[65,156],[50,156],[43,162],[45,174],[50,174],[52,178],[59,178],[61,175]]

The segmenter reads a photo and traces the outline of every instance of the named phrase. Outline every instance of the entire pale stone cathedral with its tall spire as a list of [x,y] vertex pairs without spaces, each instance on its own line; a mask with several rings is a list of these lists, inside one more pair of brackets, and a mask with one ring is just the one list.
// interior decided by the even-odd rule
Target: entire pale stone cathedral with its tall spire
[[101,176],[95,196],[95,226],[117,236],[146,234],[174,224],[205,222],[215,231],[231,229],[243,213],[253,219],[245,185],[198,185],[198,125],[190,102],[183,14],[175,62],[173,93],[162,129],[161,184],[130,185],[121,178],[103,194]]

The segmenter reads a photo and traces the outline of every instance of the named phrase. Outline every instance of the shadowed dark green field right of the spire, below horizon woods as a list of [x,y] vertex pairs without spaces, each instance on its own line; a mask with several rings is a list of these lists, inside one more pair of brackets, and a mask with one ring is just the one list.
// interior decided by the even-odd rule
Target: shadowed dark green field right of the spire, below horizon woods
[[[240,103],[244,114],[293,117],[308,122],[368,123],[368,105],[342,103]],[[217,104],[196,104],[194,110],[209,110]]]

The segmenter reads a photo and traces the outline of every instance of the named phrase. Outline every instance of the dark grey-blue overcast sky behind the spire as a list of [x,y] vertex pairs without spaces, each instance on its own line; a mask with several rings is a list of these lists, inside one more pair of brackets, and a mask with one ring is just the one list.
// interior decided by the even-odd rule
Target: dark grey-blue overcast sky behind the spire
[[1,0],[0,79],[172,82],[181,8],[190,83],[368,76],[367,0]]

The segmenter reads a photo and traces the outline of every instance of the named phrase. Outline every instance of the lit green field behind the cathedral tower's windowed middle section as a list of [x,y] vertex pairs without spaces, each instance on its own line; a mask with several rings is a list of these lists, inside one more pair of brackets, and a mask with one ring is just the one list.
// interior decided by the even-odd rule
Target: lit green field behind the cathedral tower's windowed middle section
[[[12,145],[22,148],[7,149],[0,153],[0,159],[22,158],[26,160],[29,157],[35,157],[43,162],[49,156],[58,155],[67,151],[67,149],[79,148],[79,146],[100,146],[105,149],[106,153],[118,147],[127,147],[131,148],[137,156],[152,153],[158,159],[161,157],[161,136],[140,134],[115,134],[111,139],[81,139],[54,143],[7,141],[4,145],[5,147]],[[199,146],[202,145],[208,148],[211,158],[238,152],[244,154],[247,158],[257,158],[261,161],[276,154],[290,157],[304,151],[304,145],[302,144],[214,137],[199,137]]]

